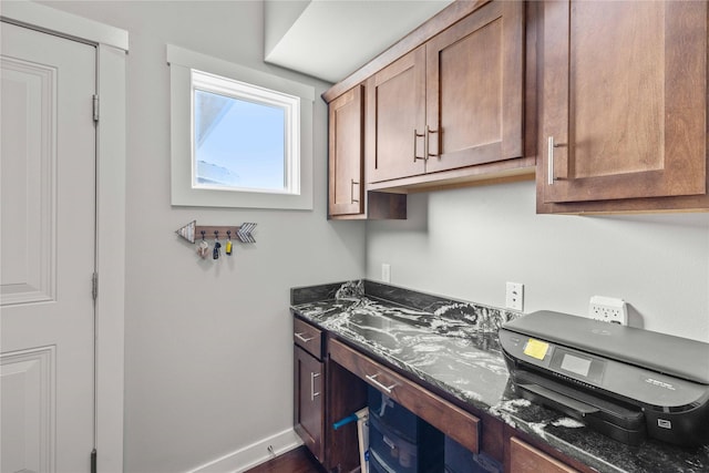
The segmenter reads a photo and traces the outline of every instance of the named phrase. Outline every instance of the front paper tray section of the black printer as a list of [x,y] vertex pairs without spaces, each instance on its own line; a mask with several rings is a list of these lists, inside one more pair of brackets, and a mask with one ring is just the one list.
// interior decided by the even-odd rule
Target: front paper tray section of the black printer
[[637,444],[646,436],[645,415],[638,409],[589,394],[530,371],[515,373],[521,394],[578,419],[620,442]]

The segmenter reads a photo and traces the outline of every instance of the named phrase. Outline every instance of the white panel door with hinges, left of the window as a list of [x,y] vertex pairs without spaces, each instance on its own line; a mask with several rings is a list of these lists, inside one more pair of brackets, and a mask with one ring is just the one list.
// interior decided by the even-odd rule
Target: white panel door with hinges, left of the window
[[96,49],[0,23],[0,470],[94,445]]

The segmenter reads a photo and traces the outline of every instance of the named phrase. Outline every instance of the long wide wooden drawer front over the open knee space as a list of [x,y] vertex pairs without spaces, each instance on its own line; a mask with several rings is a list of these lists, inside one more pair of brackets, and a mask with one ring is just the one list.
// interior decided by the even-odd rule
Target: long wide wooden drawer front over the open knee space
[[480,419],[338,340],[328,343],[332,361],[386,393],[458,443],[480,453]]

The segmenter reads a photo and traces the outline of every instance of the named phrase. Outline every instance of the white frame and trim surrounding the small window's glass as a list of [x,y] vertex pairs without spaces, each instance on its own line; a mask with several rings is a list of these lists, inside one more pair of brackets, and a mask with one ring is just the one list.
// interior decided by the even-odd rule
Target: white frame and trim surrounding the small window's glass
[[[312,209],[315,88],[167,44],[171,75],[171,203],[174,206]],[[299,193],[222,191],[193,186],[192,70],[300,97]]]

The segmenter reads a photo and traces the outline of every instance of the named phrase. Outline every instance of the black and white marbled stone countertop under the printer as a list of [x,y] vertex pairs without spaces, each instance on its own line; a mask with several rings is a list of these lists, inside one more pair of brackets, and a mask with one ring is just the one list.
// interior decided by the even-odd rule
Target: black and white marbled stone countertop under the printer
[[497,341],[517,312],[368,280],[295,288],[291,310],[600,472],[709,472],[709,445],[626,445],[518,397]]

